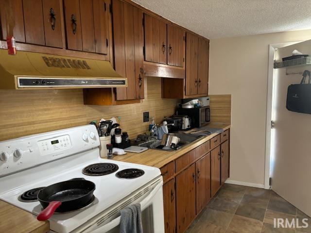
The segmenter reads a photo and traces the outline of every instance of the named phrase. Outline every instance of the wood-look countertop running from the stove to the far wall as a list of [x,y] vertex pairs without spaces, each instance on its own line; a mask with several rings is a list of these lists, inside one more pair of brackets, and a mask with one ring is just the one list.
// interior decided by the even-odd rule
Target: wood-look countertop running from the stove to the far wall
[[[211,128],[223,128],[224,131],[230,128],[229,124],[221,124],[221,123],[210,123],[208,127]],[[113,158],[113,160],[134,163],[134,164],[141,164],[146,166],[155,166],[155,167],[162,167],[171,161],[177,159],[181,155],[187,153],[188,151],[200,146],[201,144],[207,142],[214,136],[218,135],[219,133],[213,133],[206,137],[201,137],[194,142],[182,147],[176,151],[165,151],[165,150],[152,150],[148,149],[141,153],[133,153],[127,152],[125,155],[117,155]]]

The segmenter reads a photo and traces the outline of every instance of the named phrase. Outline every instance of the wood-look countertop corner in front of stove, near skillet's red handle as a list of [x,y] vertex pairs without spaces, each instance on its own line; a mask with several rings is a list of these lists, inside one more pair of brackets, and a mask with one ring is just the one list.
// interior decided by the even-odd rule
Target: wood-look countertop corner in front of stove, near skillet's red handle
[[0,232],[3,233],[47,233],[48,221],[40,222],[31,213],[0,200]]

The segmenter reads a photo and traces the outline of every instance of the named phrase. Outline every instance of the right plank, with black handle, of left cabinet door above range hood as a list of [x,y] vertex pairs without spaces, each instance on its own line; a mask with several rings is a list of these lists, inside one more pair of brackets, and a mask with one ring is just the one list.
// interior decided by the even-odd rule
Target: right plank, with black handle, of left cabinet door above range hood
[[45,45],[63,48],[59,0],[42,0]]

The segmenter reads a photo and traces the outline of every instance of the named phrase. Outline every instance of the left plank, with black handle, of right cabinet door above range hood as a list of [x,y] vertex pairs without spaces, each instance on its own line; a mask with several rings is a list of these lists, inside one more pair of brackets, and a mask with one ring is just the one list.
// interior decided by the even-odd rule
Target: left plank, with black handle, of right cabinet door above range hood
[[79,0],[64,0],[67,47],[83,50]]

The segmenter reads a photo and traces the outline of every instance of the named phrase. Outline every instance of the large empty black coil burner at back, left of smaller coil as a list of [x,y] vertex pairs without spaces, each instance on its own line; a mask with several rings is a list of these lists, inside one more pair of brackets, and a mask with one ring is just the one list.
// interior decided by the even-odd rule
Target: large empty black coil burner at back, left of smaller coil
[[86,166],[85,168],[83,168],[82,173],[87,176],[104,176],[114,173],[118,169],[119,166],[116,164],[99,163]]

